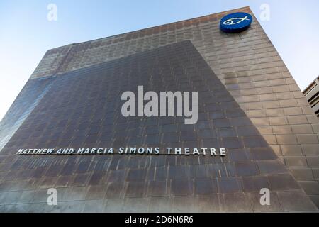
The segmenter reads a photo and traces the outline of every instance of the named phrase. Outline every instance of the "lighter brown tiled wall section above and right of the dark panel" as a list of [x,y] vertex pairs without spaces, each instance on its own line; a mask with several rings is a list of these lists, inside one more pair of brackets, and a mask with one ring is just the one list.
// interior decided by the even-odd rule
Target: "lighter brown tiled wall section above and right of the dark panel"
[[[249,8],[234,11],[252,13]],[[296,177],[308,192],[315,192],[319,120],[255,17],[252,28],[243,33],[219,30],[219,19],[230,12],[66,46],[57,49],[58,53],[50,50],[31,78],[191,40],[286,166],[293,172],[308,172],[302,179]],[[62,55],[66,57],[61,65],[51,63],[59,62]],[[319,191],[310,196],[318,204]]]

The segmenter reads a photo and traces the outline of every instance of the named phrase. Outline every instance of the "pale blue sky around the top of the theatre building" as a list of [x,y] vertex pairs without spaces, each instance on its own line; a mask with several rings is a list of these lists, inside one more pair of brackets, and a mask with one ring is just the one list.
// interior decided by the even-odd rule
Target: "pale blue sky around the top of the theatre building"
[[[47,5],[57,5],[57,21]],[[270,20],[260,21],[261,4]],[[250,6],[299,87],[319,74],[318,0],[0,1],[0,119],[51,48]]]

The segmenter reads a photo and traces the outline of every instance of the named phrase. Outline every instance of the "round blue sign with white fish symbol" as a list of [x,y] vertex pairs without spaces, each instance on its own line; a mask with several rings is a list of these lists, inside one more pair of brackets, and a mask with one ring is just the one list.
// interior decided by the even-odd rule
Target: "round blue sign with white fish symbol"
[[220,20],[220,30],[225,33],[240,33],[250,27],[252,16],[248,13],[231,13]]

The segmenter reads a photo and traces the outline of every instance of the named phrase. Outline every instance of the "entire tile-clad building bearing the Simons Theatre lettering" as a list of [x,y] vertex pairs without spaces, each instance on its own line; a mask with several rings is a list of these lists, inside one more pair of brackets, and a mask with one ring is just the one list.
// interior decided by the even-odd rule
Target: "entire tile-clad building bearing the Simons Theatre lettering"
[[0,211],[318,211],[318,179],[319,120],[248,7],[48,50],[0,123]]

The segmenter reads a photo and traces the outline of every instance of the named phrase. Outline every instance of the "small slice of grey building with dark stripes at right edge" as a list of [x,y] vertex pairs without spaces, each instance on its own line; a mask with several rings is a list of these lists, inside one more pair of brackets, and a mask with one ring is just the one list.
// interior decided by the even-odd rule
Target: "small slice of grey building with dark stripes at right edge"
[[311,108],[319,117],[319,77],[303,90],[303,95],[306,96]]

